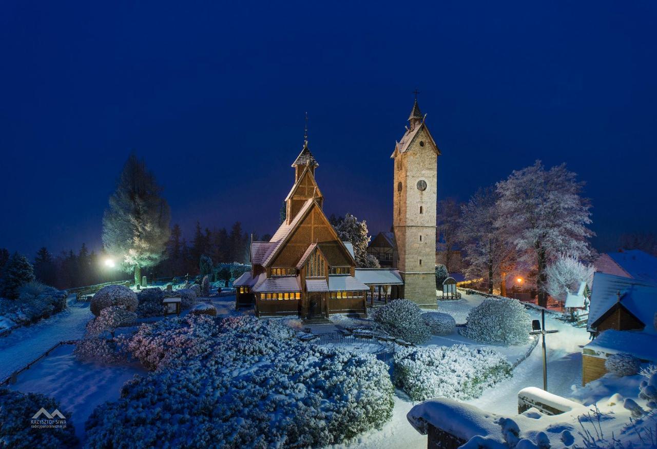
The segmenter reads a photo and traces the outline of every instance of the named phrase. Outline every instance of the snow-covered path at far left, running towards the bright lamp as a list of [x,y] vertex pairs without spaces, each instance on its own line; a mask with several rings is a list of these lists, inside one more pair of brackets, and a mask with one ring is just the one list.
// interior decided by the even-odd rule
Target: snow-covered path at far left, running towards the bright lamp
[[93,318],[88,303],[72,303],[66,310],[0,338],[0,379],[12,374],[62,340],[83,337]]

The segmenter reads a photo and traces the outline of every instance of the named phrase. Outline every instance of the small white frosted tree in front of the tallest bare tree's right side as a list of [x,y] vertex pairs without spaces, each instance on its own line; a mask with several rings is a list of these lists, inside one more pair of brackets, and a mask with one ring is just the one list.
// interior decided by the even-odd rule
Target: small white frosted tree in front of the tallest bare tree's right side
[[559,254],[555,261],[545,268],[545,290],[551,297],[564,301],[568,293],[578,291],[581,282],[590,286],[594,272],[593,264],[582,263],[577,257],[568,254]]

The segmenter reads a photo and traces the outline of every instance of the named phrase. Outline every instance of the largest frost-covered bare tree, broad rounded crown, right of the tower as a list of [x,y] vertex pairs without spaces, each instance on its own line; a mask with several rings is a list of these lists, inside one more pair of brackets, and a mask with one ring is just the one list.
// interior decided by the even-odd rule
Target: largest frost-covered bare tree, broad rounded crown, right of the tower
[[591,256],[587,239],[593,232],[591,202],[581,196],[583,182],[557,165],[545,170],[541,161],[513,171],[507,181],[497,182],[499,215],[495,226],[509,244],[537,266],[539,305],[547,306],[545,268],[559,253],[585,259]]

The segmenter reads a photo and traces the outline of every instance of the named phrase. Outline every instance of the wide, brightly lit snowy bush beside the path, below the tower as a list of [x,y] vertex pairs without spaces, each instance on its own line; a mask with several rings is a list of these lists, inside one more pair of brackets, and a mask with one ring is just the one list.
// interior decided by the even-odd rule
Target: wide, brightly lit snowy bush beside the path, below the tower
[[395,384],[413,400],[476,398],[511,375],[509,362],[497,351],[465,345],[401,349],[394,364]]

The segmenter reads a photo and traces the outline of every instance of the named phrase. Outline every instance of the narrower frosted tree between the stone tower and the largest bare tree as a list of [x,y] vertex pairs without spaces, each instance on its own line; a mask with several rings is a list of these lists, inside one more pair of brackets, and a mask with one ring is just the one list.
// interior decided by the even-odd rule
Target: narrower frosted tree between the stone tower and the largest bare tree
[[468,279],[488,280],[488,293],[493,284],[503,282],[503,273],[512,265],[514,247],[507,243],[501,229],[495,226],[499,216],[495,188],[480,188],[461,207],[461,232]]

